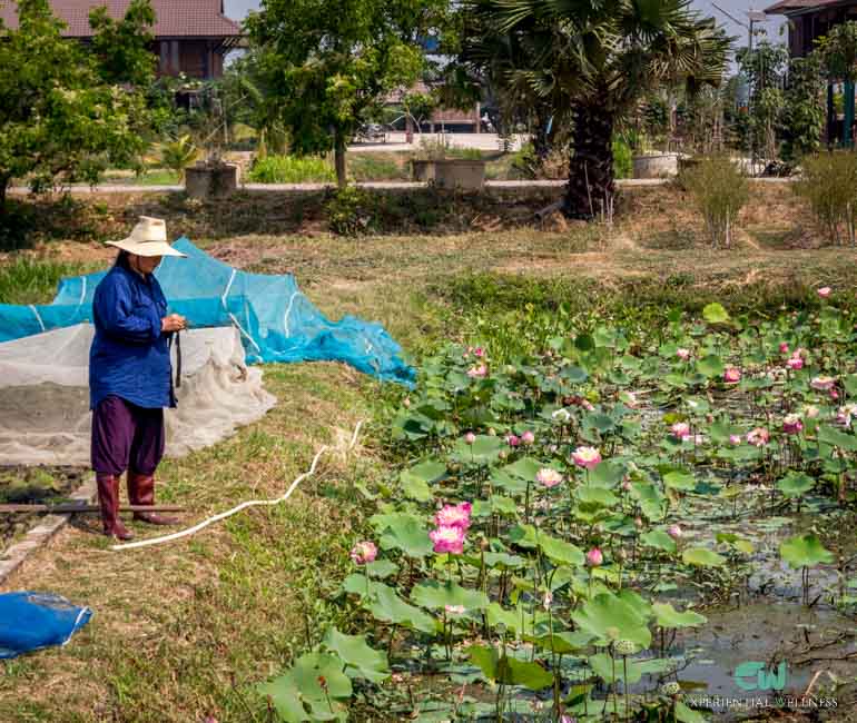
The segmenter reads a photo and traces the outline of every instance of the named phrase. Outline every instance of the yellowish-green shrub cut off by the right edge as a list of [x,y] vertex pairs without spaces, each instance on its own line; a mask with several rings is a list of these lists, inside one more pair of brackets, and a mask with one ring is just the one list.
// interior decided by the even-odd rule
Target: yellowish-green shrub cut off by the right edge
[[809,208],[833,244],[841,244],[847,235],[855,242],[855,207],[857,206],[857,153],[839,151],[807,156],[795,192],[809,202]]

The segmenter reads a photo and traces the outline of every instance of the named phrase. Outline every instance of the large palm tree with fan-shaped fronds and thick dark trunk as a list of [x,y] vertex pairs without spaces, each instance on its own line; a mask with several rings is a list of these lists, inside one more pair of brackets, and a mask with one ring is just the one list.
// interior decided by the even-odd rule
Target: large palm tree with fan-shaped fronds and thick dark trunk
[[[526,87],[570,127],[567,215],[592,218],[611,202],[613,131],[642,96],[664,82],[719,83],[731,39],[690,1],[470,0],[461,59]],[[487,62],[481,46],[503,36],[526,51]]]

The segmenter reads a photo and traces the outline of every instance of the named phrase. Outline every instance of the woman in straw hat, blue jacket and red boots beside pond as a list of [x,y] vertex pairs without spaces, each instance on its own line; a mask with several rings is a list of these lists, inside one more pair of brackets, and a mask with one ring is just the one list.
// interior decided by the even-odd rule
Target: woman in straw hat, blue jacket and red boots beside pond
[[[119,519],[119,478],[128,472],[132,505],[155,504],[155,469],[164,456],[164,407],[175,407],[170,337],[185,319],[167,315],[167,299],[152,276],[164,256],[185,256],[167,242],[159,218],[140,217],[131,235],[108,241],[119,248],[116,264],[96,288],[89,351],[92,409],[92,468],[106,535],[131,539]],[[152,525],[178,522],[136,512]]]

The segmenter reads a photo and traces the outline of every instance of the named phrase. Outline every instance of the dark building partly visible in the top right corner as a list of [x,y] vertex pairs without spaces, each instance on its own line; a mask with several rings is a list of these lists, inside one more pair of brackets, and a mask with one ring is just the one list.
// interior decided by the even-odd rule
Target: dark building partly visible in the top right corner
[[[769,16],[786,16],[789,32],[789,55],[804,58],[816,47],[816,40],[830,28],[857,20],[857,0],[780,0],[765,10]],[[834,97],[841,93],[844,113],[835,110]],[[827,87],[828,145],[851,146],[855,138],[855,98],[853,82],[833,82]]]

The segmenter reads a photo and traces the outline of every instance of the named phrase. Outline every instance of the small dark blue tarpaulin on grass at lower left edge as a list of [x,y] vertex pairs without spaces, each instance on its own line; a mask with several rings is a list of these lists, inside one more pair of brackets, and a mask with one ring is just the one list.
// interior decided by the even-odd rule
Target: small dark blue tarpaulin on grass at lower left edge
[[0,658],[65,645],[92,617],[65,597],[45,593],[0,594]]

